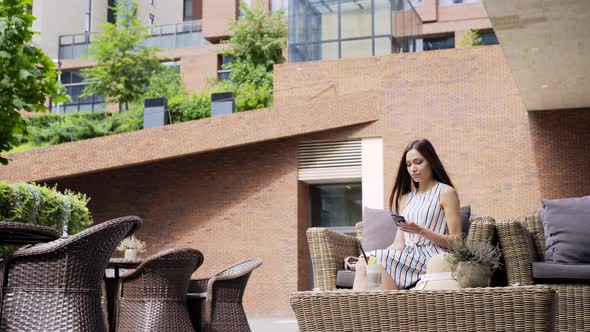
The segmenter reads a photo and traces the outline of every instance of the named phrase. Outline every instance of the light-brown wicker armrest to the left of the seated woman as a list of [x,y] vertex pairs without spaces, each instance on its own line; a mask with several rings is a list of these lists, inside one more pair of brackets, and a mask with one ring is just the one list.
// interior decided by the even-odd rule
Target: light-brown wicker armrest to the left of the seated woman
[[321,227],[309,228],[307,241],[315,287],[322,290],[336,289],[336,273],[343,269],[345,257],[360,254],[360,241],[353,236]]

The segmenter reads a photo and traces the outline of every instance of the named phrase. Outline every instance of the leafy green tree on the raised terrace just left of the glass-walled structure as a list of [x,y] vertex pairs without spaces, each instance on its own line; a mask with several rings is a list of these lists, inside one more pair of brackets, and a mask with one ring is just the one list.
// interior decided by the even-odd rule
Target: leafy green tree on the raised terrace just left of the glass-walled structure
[[262,2],[249,8],[240,1],[240,6],[244,15],[231,23],[231,38],[220,51],[231,59],[224,65],[224,69],[231,69],[229,80],[220,87],[235,92],[239,112],[271,104],[273,66],[285,62],[283,49],[287,45],[282,11],[269,13]]

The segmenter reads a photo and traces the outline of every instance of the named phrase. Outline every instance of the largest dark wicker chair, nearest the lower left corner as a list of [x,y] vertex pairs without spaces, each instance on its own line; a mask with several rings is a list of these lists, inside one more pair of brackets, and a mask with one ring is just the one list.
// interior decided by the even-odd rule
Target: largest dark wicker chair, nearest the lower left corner
[[140,225],[138,217],[113,219],[8,254],[0,330],[105,331],[104,271],[119,242]]

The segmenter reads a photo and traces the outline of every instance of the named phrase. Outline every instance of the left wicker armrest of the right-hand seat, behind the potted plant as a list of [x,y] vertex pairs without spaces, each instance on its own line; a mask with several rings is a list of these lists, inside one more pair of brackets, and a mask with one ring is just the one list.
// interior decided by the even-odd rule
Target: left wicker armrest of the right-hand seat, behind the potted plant
[[496,229],[506,264],[508,284],[532,284],[532,256],[524,226],[519,220],[502,220],[496,223]]

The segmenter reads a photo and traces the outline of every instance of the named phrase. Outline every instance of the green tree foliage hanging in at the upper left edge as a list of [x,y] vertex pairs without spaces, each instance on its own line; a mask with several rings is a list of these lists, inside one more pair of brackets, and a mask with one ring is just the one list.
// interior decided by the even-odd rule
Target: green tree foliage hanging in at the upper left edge
[[[18,144],[26,133],[19,111],[45,111],[47,97],[57,102],[66,96],[57,83],[55,64],[31,44],[31,0],[0,1],[0,152]],[[8,160],[0,157],[0,163]]]

